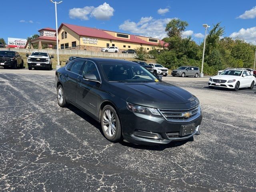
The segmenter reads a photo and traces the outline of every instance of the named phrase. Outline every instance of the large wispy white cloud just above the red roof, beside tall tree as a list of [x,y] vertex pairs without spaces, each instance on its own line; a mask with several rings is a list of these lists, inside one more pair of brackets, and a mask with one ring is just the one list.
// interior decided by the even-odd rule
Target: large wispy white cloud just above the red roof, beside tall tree
[[162,39],[167,36],[164,29],[166,24],[172,19],[173,18],[154,19],[153,17],[142,17],[137,23],[126,20],[119,26],[119,29],[142,36]]

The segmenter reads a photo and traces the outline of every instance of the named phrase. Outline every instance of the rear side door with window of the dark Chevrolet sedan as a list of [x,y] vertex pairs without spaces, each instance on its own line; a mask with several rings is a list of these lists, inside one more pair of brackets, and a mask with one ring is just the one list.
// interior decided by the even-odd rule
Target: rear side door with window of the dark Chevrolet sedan
[[64,74],[64,93],[68,100],[75,103],[76,102],[76,86],[78,82],[78,78],[81,74],[81,69],[85,60],[79,60],[75,62],[71,62],[66,66],[65,74]]

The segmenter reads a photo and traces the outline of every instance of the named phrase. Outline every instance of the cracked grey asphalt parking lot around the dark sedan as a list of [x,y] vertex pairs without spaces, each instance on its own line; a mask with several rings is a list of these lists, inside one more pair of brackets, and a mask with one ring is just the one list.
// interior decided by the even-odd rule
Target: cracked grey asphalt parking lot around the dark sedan
[[0,70],[0,191],[256,191],[255,88],[163,78],[199,98],[201,135],[148,147],[111,143],[82,111],[60,108],[54,71],[18,73]]

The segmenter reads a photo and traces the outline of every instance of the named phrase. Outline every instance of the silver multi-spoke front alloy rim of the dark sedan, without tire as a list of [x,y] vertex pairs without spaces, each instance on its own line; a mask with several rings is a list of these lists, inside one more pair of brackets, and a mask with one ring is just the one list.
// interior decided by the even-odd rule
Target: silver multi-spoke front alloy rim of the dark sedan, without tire
[[103,128],[107,136],[113,137],[116,133],[116,117],[110,109],[106,109],[103,114]]

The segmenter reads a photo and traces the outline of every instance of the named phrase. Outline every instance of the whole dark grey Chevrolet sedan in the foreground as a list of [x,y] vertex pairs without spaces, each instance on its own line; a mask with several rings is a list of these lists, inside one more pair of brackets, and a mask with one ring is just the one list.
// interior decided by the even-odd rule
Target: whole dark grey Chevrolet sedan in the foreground
[[[137,67],[144,76],[134,74]],[[111,142],[168,144],[199,134],[198,99],[137,63],[79,58],[56,71],[55,86],[59,106],[90,115]]]

